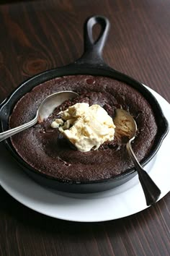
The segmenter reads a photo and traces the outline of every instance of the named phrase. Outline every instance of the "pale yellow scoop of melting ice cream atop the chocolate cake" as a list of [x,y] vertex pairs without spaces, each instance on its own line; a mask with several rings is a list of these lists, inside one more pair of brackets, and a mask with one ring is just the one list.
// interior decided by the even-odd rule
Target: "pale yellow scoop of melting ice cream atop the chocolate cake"
[[115,124],[97,104],[76,103],[60,114],[61,119],[55,119],[51,127],[58,128],[80,151],[97,150],[104,142],[114,139]]

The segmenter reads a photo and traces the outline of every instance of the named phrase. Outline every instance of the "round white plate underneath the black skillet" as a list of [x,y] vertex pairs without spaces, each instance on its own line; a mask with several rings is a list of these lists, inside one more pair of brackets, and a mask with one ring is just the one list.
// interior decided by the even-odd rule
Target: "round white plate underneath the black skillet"
[[[158,93],[153,90],[151,92],[156,96],[164,115],[170,123],[169,103]],[[169,141],[170,132],[164,139],[156,156],[146,166],[151,178],[161,189],[160,199],[170,189]],[[54,192],[32,181],[24,174],[17,163],[12,161],[9,153],[2,146],[0,150],[1,187],[23,205],[39,213],[68,221],[96,222],[130,216],[147,208],[138,176],[120,187],[95,194],[76,195]]]

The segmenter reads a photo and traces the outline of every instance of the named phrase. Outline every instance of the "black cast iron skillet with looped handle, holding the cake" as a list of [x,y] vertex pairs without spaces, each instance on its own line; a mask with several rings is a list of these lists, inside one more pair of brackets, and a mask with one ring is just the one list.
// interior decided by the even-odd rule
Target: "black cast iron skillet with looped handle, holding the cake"
[[[92,35],[92,28],[95,24],[99,24],[101,26],[101,32],[97,40],[94,41]],[[19,87],[14,90],[14,92],[9,95],[8,98],[0,105],[0,129],[1,131],[5,131],[8,129],[8,121],[9,116],[12,113],[12,109],[25,93],[29,92],[36,85],[39,85],[42,82],[47,80],[51,80],[54,77],[61,77],[63,75],[71,75],[71,74],[92,74],[92,75],[100,75],[105,77],[112,77],[116,80],[120,80],[122,82],[128,83],[130,86],[138,90],[146,100],[151,104],[151,108],[153,109],[153,113],[156,116],[156,122],[158,124],[158,134],[156,135],[156,140],[154,142],[153,148],[151,152],[148,154],[147,158],[141,161],[142,166],[146,165],[151,158],[156,154],[158,148],[161,145],[162,140],[166,136],[169,126],[166,121],[164,114],[161,111],[161,107],[159,106],[156,98],[138,81],[134,80],[131,77],[128,77],[125,74],[117,72],[115,69],[107,66],[102,59],[102,49],[104,47],[105,40],[107,38],[107,34],[109,31],[109,21],[102,16],[94,16],[89,18],[85,22],[84,25],[84,54],[80,59],[75,61],[73,64],[69,64],[66,67],[60,67],[57,69],[51,69],[41,74],[35,75],[35,77],[30,78],[26,82],[23,82]],[[119,176],[116,176],[112,179],[105,179],[102,181],[95,182],[61,182],[55,178],[49,178],[45,174],[40,174],[35,171],[34,168],[29,166],[26,162],[19,157],[17,152],[12,147],[11,141],[4,141],[6,148],[10,153],[14,156],[14,159],[19,163],[19,165],[24,168],[24,171],[27,172],[35,181],[38,183],[48,186],[50,188],[55,188],[61,191],[67,192],[99,192],[104,191],[106,189],[111,189],[112,187],[117,187],[120,184],[127,182],[129,179],[132,179],[135,176],[136,171],[134,168],[126,171]],[[160,170],[161,171],[161,170]]]

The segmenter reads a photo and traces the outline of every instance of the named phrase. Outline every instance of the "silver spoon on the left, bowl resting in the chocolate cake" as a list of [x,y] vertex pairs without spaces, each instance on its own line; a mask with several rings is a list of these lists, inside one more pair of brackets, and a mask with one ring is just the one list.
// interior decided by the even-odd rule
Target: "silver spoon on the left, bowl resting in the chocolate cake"
[[6,140],[7,138],[11,137],[12,135],[16,135],[18,132],[22,132],[24,129],[32,127],[38,122],[42,122],[44,119],[47,119],[51,113],[53,113],[54,109],[57,106],[60,106],[61,103],[64,101],[76,97],[77,93],[74,93],[70,90],[61,91],[59,93],[53,93],[47,98],[45,98],[42,103],[40,103],[39,108],[37,109],[37,114],[34,119],[27,122],[26,124],[22,124],[19,127],[15,127],[13,129],[9,129],[6,132],[0,133],[0,142],[2,140]]

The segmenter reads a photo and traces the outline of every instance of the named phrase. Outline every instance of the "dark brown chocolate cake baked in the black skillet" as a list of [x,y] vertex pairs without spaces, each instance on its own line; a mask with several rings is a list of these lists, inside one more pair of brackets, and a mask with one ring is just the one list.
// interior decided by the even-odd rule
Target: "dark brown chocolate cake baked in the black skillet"
[[109,179],[133,167],[125,143],[117,137],[111,142],[104,142],[98,150],[84,153],[76,150],[58,129],[50,127],[58,111],[82,102],[102,106],[113,119],[116,108],[123,108],[133,115],[138,126],[133,150],[139,161],[146,158],[157,132],[151,106],[130,85],[109,77],[74,75],[57,77],[37,85],[14,106],[9,127],[17,127],[33,119],[42,100],[61,90],[73,90],[79,96],[58,106],[48,120],[11,139],[14,149],[26,163],[40,173],[73,182]]

